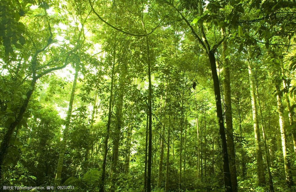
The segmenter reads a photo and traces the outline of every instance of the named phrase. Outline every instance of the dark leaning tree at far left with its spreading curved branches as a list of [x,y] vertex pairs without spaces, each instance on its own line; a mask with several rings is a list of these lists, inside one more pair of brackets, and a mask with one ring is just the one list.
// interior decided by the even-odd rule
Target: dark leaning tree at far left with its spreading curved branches
[[[46,15],[46,12],[45,12]],[[46,20],[45,20],[46,21]],[[3,161],[4,161],[4,157],[7,154],[7,150],[9,148],[9,143],[10,143],[10,138],[13,135],[13,132],[15,130],[15,128],[17,126],[20,125],[23,115],[27,109],[30,97],[35,89],[36,86],[36,82],[37,80],[39,80],[41,77],[55,71],[58,69],[63,69],[68,65],[68,59],[70,57],[70,55],[73,53],[73,50],[70,50],[68,53],[65,53],[62,51],[64,57],[60,58],[55,51],[59,50],[59,49],[54,49],[51,48],[50,45],[53,44],[54,40],[53,40],[53,33],[52,33],[52,29],[50,26],[50,22],[46,22],[47,24],[45,24],[45,26],[47,27],[48,33],[46,34],[46,38],[43,38],[43,43],[39,43],[37,44],[36,39],[33,39],[30,37],[30,35],[28,35],[29,39],[32,41],[32,44],[28,45],[28,47],[33,47],[33,49],[35,49],[35,52],[32,52],[30,56],[27,56],[28,58],[31,57],[30,59],[30,65],[27,66],[29,69],[28,74],[26,75],[26,77],[22,80],[25,81],[27,80],[27,78],[30,78],[30,85],[27,88],[26,91],[26,95],[24,96],[24,100],[21,104],[21,106],[18,109],[18,115],[15,119],[8,119],[9,122],[7,122],[7,124],[9,124],[9,126],[7,126],[7,131],[4,135],[4,139],[1,142],[1,146],[0,146],[0,165],[2,167],[3,165]],[[44,26],[44,27],[45,27]],[[31,27],[31,26],[30,26]],[[78,47],[74,48],[77,49]],[[8,48],[10,49],[10,48]],[[60,50],[62,50],[63,48],[61,47]],[[47,60],[45,60],[45,62],[41,62],[39,55],[40,54],[45,54],[45,52],[53,52],[53,57],[48,57]],[[29,53],[30,54],[30,53]],[[0,168],[0,178],[1,178],[1,168]]]

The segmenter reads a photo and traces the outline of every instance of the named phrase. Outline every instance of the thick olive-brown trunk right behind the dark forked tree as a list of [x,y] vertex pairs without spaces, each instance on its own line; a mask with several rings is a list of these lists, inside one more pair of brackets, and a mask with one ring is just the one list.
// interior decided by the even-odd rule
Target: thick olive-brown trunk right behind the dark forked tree
[[[222,38],[225,37],[225,29],[221,28]],[[226,58],[226,41],[222,42],[222,62],[224,66],[224,100],[225,100],[225,123],[226,123],[226,140],[228,146],[229,169],[231,174],[232,191],[237,192],[237,171],[235,161],[235,150],[233,142],[233,126],[232,126],[232,107],[231,107],[231,89],[230,89],[230,69],[228,59]]]

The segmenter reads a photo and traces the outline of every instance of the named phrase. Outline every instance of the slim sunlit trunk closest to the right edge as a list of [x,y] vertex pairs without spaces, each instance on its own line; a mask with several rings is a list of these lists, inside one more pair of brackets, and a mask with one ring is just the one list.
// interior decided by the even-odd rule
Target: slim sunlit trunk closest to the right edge
[[[283,64],[281,64],[281,69],[282,69],[283,77],[286,77]],[[291,109],[290,99],[289,99],[289,95],[288,95],[289,85],[287,83],[286,78],[283,78],[283,88],[285,89],[284,94],[285,94],[285,99],[286,99],[286,103],[287,103],[287,109],[289,112],[289,122],[290,122],[290,126],[292,126],[295,124],[294,119],[293,119],[294,111]],[[295,127],[292,130],[292,136],[293,136],[294,154],[296,156],[296,128]]]

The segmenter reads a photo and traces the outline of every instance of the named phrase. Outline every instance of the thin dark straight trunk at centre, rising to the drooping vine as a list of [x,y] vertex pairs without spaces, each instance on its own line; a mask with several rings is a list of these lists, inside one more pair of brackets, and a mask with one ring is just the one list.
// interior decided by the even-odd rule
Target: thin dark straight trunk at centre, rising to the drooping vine
[[152,158],[152,85],[151,85],[151,60],[148,38],[146,37],[147,58],[148,58],[148,111],[149,111],[149,142],[148,142],[148,176],[147,176],[147,191],[151,192],[151,158]]

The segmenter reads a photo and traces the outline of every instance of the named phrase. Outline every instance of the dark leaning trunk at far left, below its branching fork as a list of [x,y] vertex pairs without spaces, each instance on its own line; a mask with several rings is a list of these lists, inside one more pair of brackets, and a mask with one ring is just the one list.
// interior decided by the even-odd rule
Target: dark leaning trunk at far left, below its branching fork
[[37,81],[37,78],[32,79],[29,90],[27,91],[27,94],[26,94],[26,99],[24,100],[24,103],[22,104],[19,114],[16,117],[16,119],[10,124],[10,126],[9,126],[7,132],[5,133],[4,138],[1,142],[1,146],[0,146],[0,181],[2,178],[3,161],[4,161],[5,155],[7,154],[10,138],[13,135],[13,132],[14,132],[16,126],[19,125],[19,123],[21,122],[21,120],[23,118],[23,115],[27,109],[30,97],[35,89],[36,81]]

